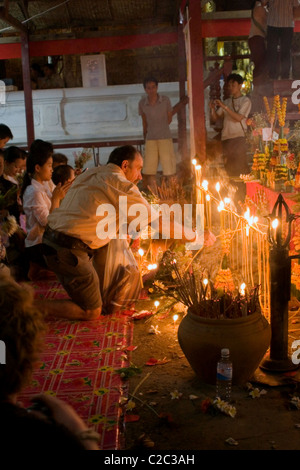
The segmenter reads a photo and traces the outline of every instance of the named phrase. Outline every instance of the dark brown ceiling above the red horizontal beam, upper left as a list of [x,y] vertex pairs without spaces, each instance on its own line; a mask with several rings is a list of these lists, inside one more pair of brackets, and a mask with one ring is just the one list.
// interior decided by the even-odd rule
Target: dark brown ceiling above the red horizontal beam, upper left
[[0,36],[19,34],[11,26],[14,20],[33,36],[171,30],[178,25],[180,4],[181,0],[4,0],[0,1]]

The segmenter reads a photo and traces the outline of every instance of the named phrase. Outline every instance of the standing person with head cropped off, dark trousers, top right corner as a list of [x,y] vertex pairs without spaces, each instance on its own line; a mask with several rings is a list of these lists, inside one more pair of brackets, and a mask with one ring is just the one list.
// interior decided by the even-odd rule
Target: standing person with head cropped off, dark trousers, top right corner
[[[290,78],[291,46],[294,34],[294,13],[298,0],[269,0],[267,54],[269,77]],[[277,47],[280,44],[281,71],[277,69]]]

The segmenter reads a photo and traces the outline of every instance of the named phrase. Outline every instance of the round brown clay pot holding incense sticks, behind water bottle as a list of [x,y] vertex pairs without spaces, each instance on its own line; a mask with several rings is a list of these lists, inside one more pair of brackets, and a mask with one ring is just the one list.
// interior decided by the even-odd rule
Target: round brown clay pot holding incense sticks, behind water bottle
[[232,383],[251,379],[266,353],[271,328],[260,313],[235,319],[211,319],[190,311],[178,328],[178,341],[188,362],[203,382],[216,383],[221,349],[228,348],[232,360]]

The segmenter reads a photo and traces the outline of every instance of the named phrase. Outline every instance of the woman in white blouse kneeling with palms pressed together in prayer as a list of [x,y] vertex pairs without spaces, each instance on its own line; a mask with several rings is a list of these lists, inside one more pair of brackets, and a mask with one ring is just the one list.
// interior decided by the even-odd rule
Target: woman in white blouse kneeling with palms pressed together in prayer
[[26,161],[22,195],[27,232],[25,249],[30,261],[28,277],[31,280],[39,278],[39,268],[47,268],[42,252],[42,238],[48,215],[59,207],[71,185],[70,182],[63,186],[58,184],[51,192],[49,182],[53,171],[52,155],[51,143],[36,140],[30,147]]

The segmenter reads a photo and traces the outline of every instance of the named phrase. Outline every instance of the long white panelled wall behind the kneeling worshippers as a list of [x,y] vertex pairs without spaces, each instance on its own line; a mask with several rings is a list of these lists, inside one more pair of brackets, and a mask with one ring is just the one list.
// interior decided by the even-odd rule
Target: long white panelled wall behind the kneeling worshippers
[[[159,84],[159,92],[179,101],[177,82]],[[144,95],[142,84],[102,88],[35,90],[33,96],[35,138],[53,144],[87,145],[93,142],[142,139],[138,102]],[[7,92],[0,105],[0,122],[14,135],[12,145],[27,146],[24,92]],[[177,136],[177,116],[171,130]]]

